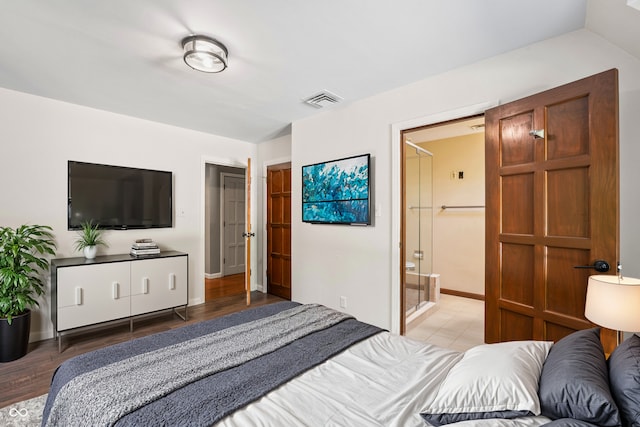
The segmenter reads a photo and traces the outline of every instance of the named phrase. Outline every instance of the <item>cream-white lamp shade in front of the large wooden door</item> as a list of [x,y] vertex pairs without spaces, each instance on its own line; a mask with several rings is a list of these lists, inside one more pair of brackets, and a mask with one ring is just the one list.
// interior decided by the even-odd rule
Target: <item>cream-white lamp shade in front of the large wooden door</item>
[[618,276],[591,276],[584,315],[596,325],[640,332],[640,280]]

